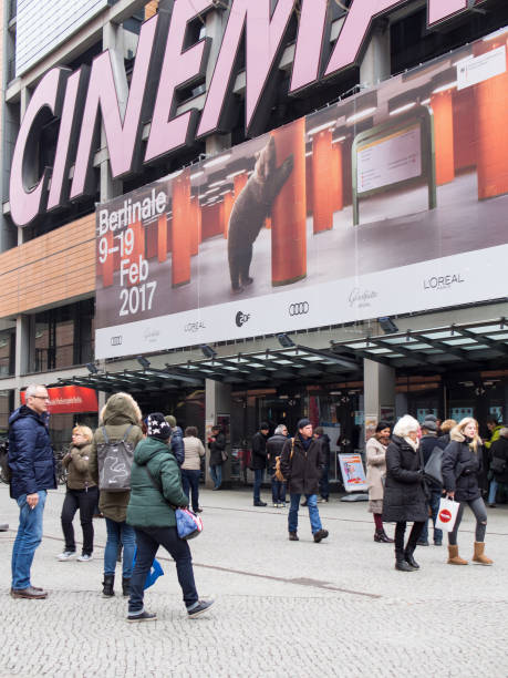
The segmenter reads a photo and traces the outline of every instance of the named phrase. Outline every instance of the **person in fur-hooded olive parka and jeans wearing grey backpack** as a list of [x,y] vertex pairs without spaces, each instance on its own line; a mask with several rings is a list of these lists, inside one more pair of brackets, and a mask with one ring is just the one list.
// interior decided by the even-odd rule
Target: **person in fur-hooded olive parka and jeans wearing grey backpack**
[[[134,450],[143,440],[142,413],[132,396],[128,393],[114,393],[108,398],[101,411],[99,428],[94,433],[90,452],[90,472],[99,483],[101,491],[99,507],[106,518],[106,547],[104,549],[104,581],[103,596],[114,596],[116,554],[118,545],[123,544],[122,563],[122,592],[128,596],[129,583],[133,572],[136,538],[134,530],[127,525],[125,518],[131,496],[129,474]],[[115,450],[116,448],[116,450]],[[118,458],[118,463],[104,465],[110,453]],[[120,459],[122,458],[122,461]],[[128,466],[128,468],[126,468]],[[125,477],[126,489],[105,490],[113,486],[118,479]],[[101,482],[99,479],[101,476]]]

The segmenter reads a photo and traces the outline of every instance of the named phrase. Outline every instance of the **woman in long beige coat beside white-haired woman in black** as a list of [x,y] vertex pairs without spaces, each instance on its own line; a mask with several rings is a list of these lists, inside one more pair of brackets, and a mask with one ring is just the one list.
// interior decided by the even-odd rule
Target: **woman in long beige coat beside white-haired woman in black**
[[369,485],[369,511],[374,514],[375,532],[374,542],[392,544],[383,527],[383,495],[384,479],[386,476],[386,448],[390,442],[391,427],[385,421],[380,421],[375,434],[367,440],[365,446],[366,456],[366,481]]

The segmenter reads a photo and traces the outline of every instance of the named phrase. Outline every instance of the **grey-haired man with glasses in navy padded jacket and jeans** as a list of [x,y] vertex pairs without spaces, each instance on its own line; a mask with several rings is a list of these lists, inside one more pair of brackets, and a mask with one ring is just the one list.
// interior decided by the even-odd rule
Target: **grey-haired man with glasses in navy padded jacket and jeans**
[[48,390],[31,384],[25,404],[9,418],[9,468],[11,496],[20,508],[20,523],[12,548],[13,598],[45,598],[48,593],[32,586],[30,568],[42,540],[42,514],[48,490],[56,487],[53,448],[48,432]]

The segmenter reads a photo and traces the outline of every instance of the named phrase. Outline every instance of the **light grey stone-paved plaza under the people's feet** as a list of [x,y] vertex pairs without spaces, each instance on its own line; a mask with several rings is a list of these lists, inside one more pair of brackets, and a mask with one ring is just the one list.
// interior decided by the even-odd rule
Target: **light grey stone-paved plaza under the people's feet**
[[[300,542],[287,511],[256,508],[246,491],[201,491],[205,531],[191,542],[201,597],[216,605],[188,619],[174,565],[145,597],[157,622],[127,624],[117,592],[102,598],[104,521],[94,521],[90,563],[59,563],[64,490],[50,492],[32,581],[46,600],[9,596],[17,505],[0,485],[0,677],[348,676],[507,678],[508,510],[489,510],[493,567],[446,565],[445,547],[419,547],[421,571],[394,569],[393,547],[373,542],[365,503],[320,506],[329,540],[314,544],[305,508]],[[268,499],[268,497],[266,497]],[[76,537],[81,527],[75,518]],[[466,510],[460,553],[470,557]],[[387,526],[387,532],[393,527]]]

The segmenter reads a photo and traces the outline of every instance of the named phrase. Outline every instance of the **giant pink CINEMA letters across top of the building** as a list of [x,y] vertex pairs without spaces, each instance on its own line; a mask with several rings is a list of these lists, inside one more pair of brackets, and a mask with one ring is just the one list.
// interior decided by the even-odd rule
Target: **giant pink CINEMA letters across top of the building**
[[[428,0],[428,27],[468,11],[485,0]],[[335,75],[357,63],[372,21],[408,0],[353,0],[329,59],[324,38],[330,27],[329,0],[301,0],[300,24],[289,93]],[[205,106],[176,114],[176,94],[203,82],[210,39],[188,44],[188,24],[214,9],[209,0],[175,0],[173,13],[159,13],[141,30],[134,72],[125,104],[125,74],[118,76],[108,50],[75,72],[50,70],[35,89],[24,114],[11,165],[10,209],[18,226],[27,226],[44,212],[94,195],[93,150],[99,120],[105,132],[113,178],[142,172],[144,165],[178,151],[195,138],[228,130],[228,104],[236,75],[239,45],[246,34],[246,130],[259,133],[270,109],[266,88],[286,47],[296,0],[231,0]],[[115,76],[116,75],[116,76]],[[123,82],[120,83],[120,78]],[[261,105],[262,97],[262,105]],[[101,117],[100,117],[101,116]],[[52,167],[33,176],[43,124],[60,120]],[[143,126],[152,120],[146,144]],[[69,179],[74,166],[72,179]]]

